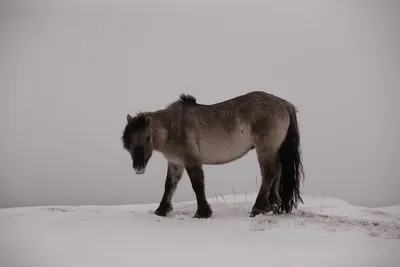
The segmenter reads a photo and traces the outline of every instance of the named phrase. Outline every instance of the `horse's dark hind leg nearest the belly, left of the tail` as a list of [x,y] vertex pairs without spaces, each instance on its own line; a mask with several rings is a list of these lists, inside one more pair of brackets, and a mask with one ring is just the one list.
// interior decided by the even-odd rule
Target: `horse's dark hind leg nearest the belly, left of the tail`
[[[268,212],[269,210],[271,210],[272,207],[270,199],[272,200],[273,196],[271,196],[270,198],[270,193],[271,189],[272,191],[275,191],[275,187],[272,188],[272,185],[276,178],[280,176],[280,169],[277,168],[279,164],[277,164],[275,153],[271,154],[271,151],[265,149],[257,149],[257,156],[258,163],[261,169],[262,183],[256,201],[251,210],[250,217],[254,217],[260,213]],[[277,183],[277,187],[279,196],[279,183]],[[274,198],[274,200],[276,201],[276,198]]]

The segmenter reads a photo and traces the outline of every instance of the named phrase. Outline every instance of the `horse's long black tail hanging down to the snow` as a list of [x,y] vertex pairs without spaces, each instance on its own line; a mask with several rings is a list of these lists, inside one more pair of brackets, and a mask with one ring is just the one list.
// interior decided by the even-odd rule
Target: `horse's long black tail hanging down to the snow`
[[304,179],[304,170],[301,159],[300,133],[297,124],[297,110],[287,103],[290,114],[290,124],[283,141],[278,156],[282,164],[282,175],[280,180],[280,197],[282,206],[280,212],[290,213],[293,208],[297,208],[298,201],[303,202],[300,196],[300,178]]

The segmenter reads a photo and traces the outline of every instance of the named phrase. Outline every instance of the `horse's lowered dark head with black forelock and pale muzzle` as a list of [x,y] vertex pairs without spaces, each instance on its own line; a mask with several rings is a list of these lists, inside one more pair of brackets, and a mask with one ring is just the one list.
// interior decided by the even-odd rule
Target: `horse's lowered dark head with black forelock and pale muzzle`
[[138,114],[136,117],[128,114],[126,120],[122,135],[123,146],[131,155],[136,174],[143,174],[153,154],[151,118],[145,114]]

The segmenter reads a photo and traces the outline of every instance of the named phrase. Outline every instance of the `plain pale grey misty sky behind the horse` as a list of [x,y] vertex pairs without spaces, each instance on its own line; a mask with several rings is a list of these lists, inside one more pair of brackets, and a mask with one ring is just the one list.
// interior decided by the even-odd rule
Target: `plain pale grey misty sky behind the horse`
[[[304,192],[400,203],[398,2],[28,2],[0,6],[0,207],[158,202],[166,161],[134,174],[126,114],[254,89],[299,109]],[[257,189],[254,152],[205,173]]]

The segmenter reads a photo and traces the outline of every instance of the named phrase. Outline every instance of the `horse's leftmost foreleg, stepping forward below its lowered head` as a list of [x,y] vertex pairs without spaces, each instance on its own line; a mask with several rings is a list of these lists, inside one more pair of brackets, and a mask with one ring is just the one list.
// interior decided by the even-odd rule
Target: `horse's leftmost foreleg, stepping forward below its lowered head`
[[166,216],[172,210],[171,199],[175,193],[178,182],[182,178],[183,170],[183,166],[168,162],[164,195],[161,199],[159,207],[155,211],[155,214],[157,214],[158,216]]

